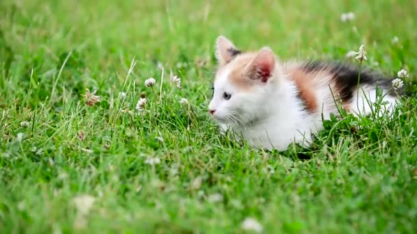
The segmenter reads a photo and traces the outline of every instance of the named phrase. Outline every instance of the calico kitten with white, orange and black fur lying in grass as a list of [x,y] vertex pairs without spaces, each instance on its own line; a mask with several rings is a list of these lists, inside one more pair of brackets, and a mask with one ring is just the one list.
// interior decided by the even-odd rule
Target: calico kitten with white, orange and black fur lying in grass
[[[385,94],[391,85],[388,80],[377,83],[377,75],[363,71],[358,94],[355,68],[284,63],[267,47],[243,53],[223,36],[217,38],[215,53],[219,64],[209,113],[222,129],[239,133],[255,147],[284,151],[291,142],[308,146],[311,133],[322,129],[322,116],[338,113],[335,100],[347,112],[370,114],[368,101],[376,100],[376,86]],[[385,114],[397,100],[391,93],[384,96]]]

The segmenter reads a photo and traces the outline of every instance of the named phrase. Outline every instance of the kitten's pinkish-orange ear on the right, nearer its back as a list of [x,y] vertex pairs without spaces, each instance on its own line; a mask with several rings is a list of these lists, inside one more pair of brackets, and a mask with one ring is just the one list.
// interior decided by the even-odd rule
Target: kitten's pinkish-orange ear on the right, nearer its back
[[275,55],[274,51],[268,47],[263,47],[252,60],[247,68],[248,76],[251,79],[266,83],[274,75]]

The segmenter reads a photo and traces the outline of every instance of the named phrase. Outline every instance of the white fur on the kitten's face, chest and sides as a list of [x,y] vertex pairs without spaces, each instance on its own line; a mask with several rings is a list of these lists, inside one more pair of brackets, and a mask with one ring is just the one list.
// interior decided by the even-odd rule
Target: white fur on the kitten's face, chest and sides
[[[276,148],[284,151],[291,142],[308,146],[311,133],[322,129],[322,114],[329,118],[330,113],[337,113],[335,103],[331,99],[331,91],[326,83],[316,90],[320,112],[307,114],[302,107],[302,101],[297,97],[296,84],[291,79],[279,73],[281,65],[276,63],[274,75],[267,83],[254,84],[254,90],[247,92],[239,90],[230,83],[227,66],[215,79],[215,92],[209,109],[215,109],[213,118],[223,129],[235,131],[242,135],[254,147],[267,149]],[[323,79],[328,81],[328,79]],[[368,101],[374,102],[374,88],[362,87],[364,92],[354,92],[352,111],[355,114],[370,114]],[[229,100],[223,99],[223,92],[232,94]],[[385,96],[390,111],[396,103],[392,96]],[[358,103],[358,105],[354,105]]]

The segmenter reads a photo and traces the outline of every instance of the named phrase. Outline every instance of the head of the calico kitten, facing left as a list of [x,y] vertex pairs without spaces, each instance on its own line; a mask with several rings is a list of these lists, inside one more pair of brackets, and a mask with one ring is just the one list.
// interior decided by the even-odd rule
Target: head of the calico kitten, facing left
[[226,125],[245,125],[267,111],[270,92],[276,86],[276,58],[264,47],[258,52],[243,53],[230,40],[219,36],[215,53],[218,69],[213,99],[208,111]]

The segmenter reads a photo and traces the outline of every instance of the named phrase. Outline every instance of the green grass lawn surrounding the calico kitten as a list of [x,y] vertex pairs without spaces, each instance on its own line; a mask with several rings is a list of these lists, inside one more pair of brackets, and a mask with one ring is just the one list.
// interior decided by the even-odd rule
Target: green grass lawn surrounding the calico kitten
[[[366,44],[364,64],[406,68],[413,93],[416,12],[411,0],[0,1],[0,233],[243,233],[248,217],[265,233],[415,233],[414,94],[392,120],[329,120],[312,148],[281,153],[220,135],[206,106],[219,34],[283,60],[346,61]],[[101,101],[85,105],[86,88]],[[141,94],[146,112],[121,112]],[[95,197],[84,215],[83,194]]]

